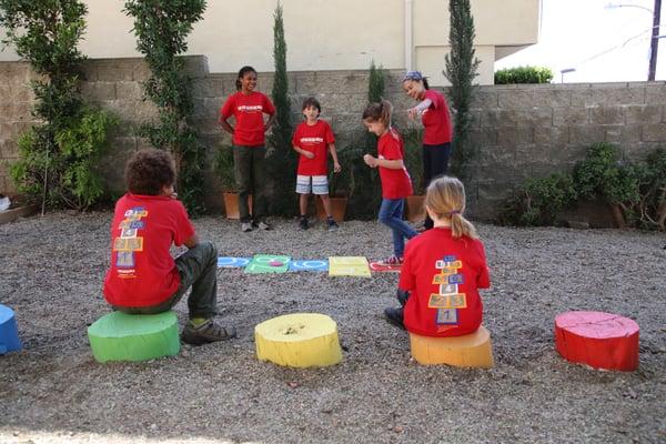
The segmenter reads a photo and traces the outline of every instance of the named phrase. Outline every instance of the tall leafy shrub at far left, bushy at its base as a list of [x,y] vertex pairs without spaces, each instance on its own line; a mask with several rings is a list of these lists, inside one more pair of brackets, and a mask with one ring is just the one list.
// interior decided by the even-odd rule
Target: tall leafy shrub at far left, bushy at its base
[[79,93],[85,13],[79,0],[0,0],[2,42],[40,75],[31,82],[40,123],[20,135],[10,172],[20,192],[41,198],[42,211],[83,210],[104,194],[97,162],[114,119],[83,107]]

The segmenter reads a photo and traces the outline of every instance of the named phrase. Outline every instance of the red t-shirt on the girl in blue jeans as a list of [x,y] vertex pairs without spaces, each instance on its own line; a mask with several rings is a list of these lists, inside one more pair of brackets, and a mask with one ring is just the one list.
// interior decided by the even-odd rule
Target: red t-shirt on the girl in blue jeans
[[[405,158],[404,143],[394,129],[386,131],[377,140],[377,158],[386,160]],[[406,167],[400,170],[380,167],[380,179],[382,180],[382,198],[402,199],[412,195],[412,179]]]

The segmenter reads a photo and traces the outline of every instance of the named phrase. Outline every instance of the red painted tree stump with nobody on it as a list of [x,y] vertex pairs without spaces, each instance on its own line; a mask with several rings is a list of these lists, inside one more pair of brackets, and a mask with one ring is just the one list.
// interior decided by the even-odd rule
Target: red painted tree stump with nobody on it
[[638,369],[638,324],[617,314],[567,312],[555,317],[555,346],[567,361],[594,369]]

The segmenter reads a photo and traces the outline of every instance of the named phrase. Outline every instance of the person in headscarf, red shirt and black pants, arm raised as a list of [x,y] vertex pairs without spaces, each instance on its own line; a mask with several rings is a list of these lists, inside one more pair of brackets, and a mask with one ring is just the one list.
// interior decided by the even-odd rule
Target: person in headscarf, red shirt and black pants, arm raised
[[[446,174],[451,153],[451,118],[446,99],[431,90],[427,78],[418,71],[408,71],[403,78],[403,89],[420,103],[407,110],[412,120],[421,115],[423,132],[423,182],[427,186],[431,180]],[[433,228],[433,220],[426,215],[424,226]]]

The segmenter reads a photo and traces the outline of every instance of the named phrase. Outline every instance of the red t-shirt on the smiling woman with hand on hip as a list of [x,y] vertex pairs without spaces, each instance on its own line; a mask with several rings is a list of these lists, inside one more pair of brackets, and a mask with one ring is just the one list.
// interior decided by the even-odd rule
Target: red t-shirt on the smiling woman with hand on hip
[[233,115],[236,124],[233,128],[233,143],[242,147],[260,147],[264,144],[263,114],[274,114],[275,107],[271,100],[259,91],[243,94],[241,91],[231,94],[220,114],[226,120]]

